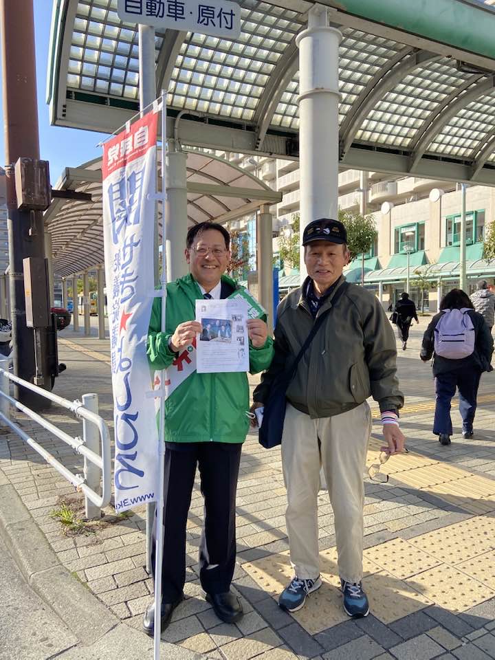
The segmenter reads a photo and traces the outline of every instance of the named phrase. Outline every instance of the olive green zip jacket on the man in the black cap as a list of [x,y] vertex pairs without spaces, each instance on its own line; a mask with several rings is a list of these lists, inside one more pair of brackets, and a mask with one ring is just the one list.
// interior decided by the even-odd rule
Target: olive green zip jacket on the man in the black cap
[[[318,316],[331,307],[344,279],[318,310]],[[275,356],[254,391],[254,401],[267,400],[272,382],[296,358],[314,325],[302,293],[308,283],[309,278],[278,305]],[[366,289],[350,284],[300,360],[287,388],[287,400],[312,418],[339,415],[370,395],[380,410],[398,410],[404,396],[399,390],[396,358],[393,330],[380,301]]]

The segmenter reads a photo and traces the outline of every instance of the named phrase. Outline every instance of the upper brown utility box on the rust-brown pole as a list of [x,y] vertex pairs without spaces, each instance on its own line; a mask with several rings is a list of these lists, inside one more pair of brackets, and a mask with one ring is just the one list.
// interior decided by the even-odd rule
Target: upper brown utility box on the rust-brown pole
[[17,208],[45,211],[52,201],[50,168],[47,160],[19,158],[15,164]]

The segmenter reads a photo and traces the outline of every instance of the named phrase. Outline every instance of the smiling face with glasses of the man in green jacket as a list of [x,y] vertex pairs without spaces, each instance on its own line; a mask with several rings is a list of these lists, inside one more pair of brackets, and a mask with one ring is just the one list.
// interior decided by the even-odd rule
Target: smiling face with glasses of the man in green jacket
[[190,274],[206,292],[217,286],[229,260],[230,250],[225,248],[223,234],[217,229],[197,234],[191,247],[186,248]]

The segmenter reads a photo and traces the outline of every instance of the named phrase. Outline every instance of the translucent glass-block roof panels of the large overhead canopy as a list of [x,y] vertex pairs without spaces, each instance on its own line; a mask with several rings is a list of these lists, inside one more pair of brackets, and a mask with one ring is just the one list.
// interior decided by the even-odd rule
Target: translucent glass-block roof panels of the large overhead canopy
[[[111,132],[137,111],[137,26],[121,23],[116,5],[117,0],[54,0],[53,123]],[[166,88],[171,117],[181,110],[202,113],[210,124],[216,120],[224,128],[247,129],[256,137],[253,151],[297,156],[298,147],[291,152],[298,132],[295,39],[307,25],[311,3],[240,0],[240,5],[242,32],[236,41],[157,32],[157,89]],[[493,5],[494,0],[473,0],[473,15],[491,18]],[[472,176],[495,184],[490,148],[495,147],[495,60],[492,69],[465,66],[434,41],[428,49],[415,47],[410,35],[394,41],[382,36],[391,30],[358,29],[349,17],[341,21],[337,10],[331,20],[343,36],[342,163],[353,149],[378,147],[381,153],[406,155],[415,171],[425,159],[430,167],[431,161],[439,162],[439,173],[441,163],[450,162],[470,168],[465,170],[470,175],[459,179]],[[170,54],[171,63],[162,61]],[[268,148],[272,136],[279,142]],[[181,140],[188,143],[187,136]]]

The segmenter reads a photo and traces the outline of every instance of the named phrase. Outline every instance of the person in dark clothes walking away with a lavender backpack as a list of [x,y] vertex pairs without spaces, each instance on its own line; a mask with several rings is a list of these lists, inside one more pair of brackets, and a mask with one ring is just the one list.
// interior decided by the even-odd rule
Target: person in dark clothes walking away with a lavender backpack
[[[467,308],[474,327],[474,351],[466,358],[452,360],[434,353],[434,331],[445,310]],[[450,404],[456,388],[459,390],[459,412],[463,420],[463,437],[473,437],[473,421],[476,412],[476,396],[483,371],[493,371],[491,365],[494,342],[485,319],[477,311],[470,298],[462,289],[452,289],[440,303],[440,312],[436,314],[423,335],[419,357],[427,362],[433,356],[433,377],[436,406],[433,433],[439,436],[442,445],[450,445],[452,419]]]

